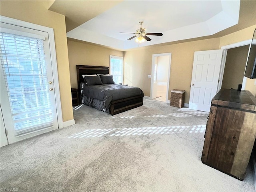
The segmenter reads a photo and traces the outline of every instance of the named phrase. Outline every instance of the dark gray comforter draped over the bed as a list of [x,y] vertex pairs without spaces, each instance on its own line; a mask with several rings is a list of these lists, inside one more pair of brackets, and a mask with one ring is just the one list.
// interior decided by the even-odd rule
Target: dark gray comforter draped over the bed
[[98,110],[109,113],[111,101],[129,98],[132,96],[144,96],[138,87],[130,87],[119,84],[86,85],[80,84],[81,102],[93,106]]

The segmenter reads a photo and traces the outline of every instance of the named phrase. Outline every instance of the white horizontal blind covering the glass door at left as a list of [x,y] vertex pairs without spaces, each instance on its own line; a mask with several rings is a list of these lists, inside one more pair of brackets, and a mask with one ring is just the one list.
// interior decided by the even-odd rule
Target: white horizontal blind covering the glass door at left
[[1,32],[0,48],[15,136],[52,127],[43,40]]

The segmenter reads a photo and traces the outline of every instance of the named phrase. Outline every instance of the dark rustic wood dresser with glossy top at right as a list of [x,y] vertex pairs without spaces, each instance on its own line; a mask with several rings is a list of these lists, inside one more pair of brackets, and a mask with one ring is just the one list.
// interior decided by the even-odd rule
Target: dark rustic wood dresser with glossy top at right
[[256,98],[249,91],[222,89],[212,99],[202,162],[244,180],[256,138]]

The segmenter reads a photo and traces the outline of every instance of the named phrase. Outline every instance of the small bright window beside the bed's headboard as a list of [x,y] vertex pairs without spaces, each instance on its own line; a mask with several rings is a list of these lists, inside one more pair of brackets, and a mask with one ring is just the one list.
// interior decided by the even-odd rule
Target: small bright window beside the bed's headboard
[[110,55],[110,75],[113,75],[113,80],[116,84],[124,81],[124,58]]

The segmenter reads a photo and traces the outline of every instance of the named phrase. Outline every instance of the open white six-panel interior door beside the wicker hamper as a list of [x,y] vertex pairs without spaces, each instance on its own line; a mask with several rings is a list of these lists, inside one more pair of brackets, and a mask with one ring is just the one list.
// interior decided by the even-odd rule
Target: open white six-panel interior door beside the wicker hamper
[[210,111],[211,100],[217,93],[222,50],[194,53],[189,108]]

